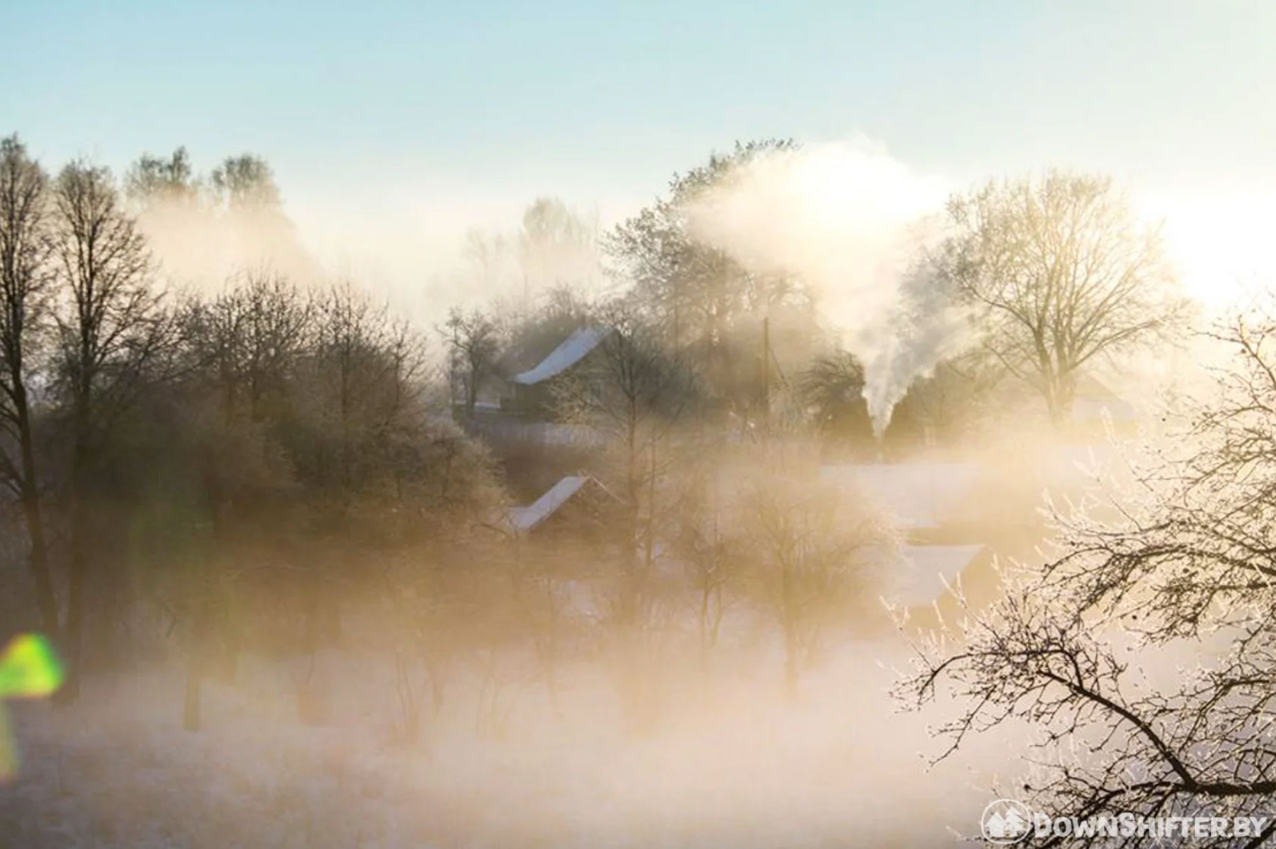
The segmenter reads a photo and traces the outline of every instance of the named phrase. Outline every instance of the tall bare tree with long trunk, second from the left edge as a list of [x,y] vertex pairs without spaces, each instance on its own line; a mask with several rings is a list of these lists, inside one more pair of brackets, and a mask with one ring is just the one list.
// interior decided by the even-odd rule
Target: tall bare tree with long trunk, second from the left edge
[[163,353],[170,325],[149,286],[149,255],[106,168],[75,162],[54,185],[59,379],[71,426],[70,562],[64,642],[79,692],[84,580],[93,552],[93,467],[103,436]]

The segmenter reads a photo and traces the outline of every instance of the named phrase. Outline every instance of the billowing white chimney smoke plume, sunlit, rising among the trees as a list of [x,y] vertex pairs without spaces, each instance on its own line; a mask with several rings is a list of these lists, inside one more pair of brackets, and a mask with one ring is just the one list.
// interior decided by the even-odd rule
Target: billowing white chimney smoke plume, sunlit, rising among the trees
[[947,195],[880,147],[828,143],[760,157],[688,212],[697,238],[814,288],[864,365],[880,436],[910,384],[967,343],[962,315],[917,264]]

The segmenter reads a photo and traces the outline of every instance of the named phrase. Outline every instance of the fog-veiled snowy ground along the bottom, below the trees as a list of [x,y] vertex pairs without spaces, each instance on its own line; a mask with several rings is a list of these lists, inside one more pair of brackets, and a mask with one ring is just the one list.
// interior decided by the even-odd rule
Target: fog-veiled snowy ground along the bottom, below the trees
[[1016,753],[980,741],[928,773],[937,746],[925,718],[894,711],[868,657],[884,653],[847,653],[796,705],[776,695],[777,668],[755,667],[681,693],[699,706],[642,739],[586,672],[560,720],[524,691],[505,741],[476,734],[457,693],[416,747],[393,743],[393,685],[366,658],[324,659],[339,700],[323,728],[293,720],[277,668],[209,683],[199,733],[180,727],[180,677],[137,673],[77,708],[17,706],[0,849],[957,845],[951,829],[977,830]]

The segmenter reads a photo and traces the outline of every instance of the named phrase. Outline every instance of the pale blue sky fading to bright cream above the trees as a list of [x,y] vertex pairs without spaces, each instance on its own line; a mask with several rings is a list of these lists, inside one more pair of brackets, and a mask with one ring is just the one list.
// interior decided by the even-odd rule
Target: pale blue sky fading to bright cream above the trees
[[3,5],[0,131],[119,171],[256,152],[320,252],[396,286],[404,245],[542,194],[612,222],[766,136],[872,139],[953,186],[1102,170],[1228,275],[1276,219],[1263,0]]

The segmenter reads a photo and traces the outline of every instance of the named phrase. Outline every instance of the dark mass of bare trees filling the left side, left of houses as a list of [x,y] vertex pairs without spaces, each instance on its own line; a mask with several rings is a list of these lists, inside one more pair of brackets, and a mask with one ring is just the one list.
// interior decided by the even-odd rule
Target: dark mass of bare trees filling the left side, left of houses
[[[212,297],[165,292],[106,170],[50,177],[3,144],[0,472],[26,532],[26,618],[73,673],[63,697],[94,659],[138,650],[117,640],[139,600],[189,632],[199,664],[223,584],[296,572],[313,645],[336,621],[319,583],[359,567],[357,541],[499,504],[490,461],[430,412],[424,340],[365,293],[268,270]],[[228,204],[276,203],[254,162],[214,172]],[[134,200],[185,185],[180,157],[152,164],[130,173]]]

